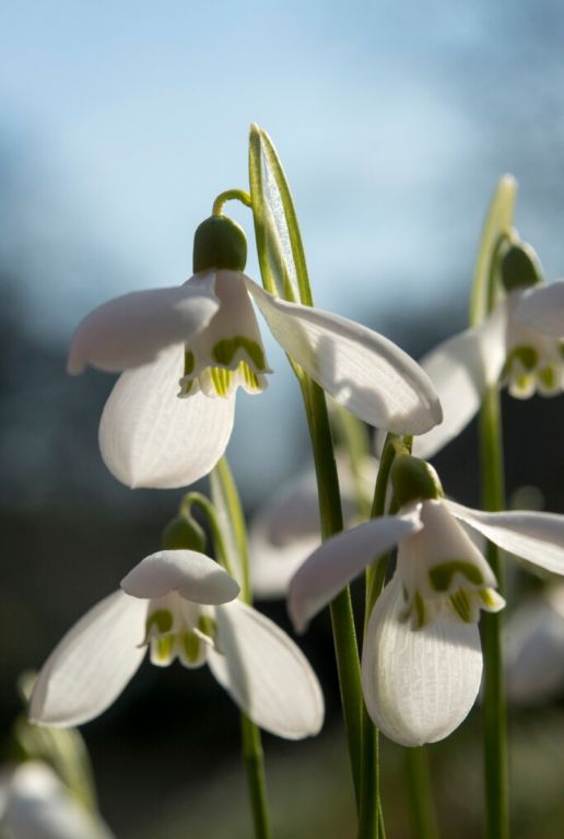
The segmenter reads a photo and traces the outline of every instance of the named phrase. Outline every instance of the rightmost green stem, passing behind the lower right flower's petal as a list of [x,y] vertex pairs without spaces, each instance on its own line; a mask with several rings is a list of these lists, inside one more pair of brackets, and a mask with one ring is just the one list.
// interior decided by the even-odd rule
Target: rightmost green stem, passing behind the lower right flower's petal
[[[480,412],[480,447],[482,469],[482,504],[489,512],[503,510],[504,468],[501,431],[500,392],[487,391]],[[487,560],[500,592],[503,592],[503,568],[500,551],[487,543]],[[484,770],[485,818],[487,839],[509,836],[509,790],[507,777],[507,719],[504,696],[501,645],[501,616],[482,615],[482,646],[484,653]]]

